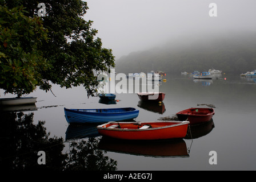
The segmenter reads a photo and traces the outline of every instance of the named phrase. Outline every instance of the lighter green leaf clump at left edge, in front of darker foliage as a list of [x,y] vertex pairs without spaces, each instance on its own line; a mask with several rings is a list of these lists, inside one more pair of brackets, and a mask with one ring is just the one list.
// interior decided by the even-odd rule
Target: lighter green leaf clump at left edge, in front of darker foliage
[[0,6],[0,88],[18,96],[33,92],[49,69],[40,47],[47,30],[38,17],[24,15],[23,7]]

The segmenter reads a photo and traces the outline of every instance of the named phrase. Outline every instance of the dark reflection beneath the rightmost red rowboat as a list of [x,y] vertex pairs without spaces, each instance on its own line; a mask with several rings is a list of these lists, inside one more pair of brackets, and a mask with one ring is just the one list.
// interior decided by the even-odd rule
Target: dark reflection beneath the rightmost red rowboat
[[190,129],[187,130],[187,135],[185,139],[191,139],[191,136],[193,139],[203,137],[209,134],[214,127],[215,125],[213,119],[210,119],[210,121],[198,125],[191,125]]

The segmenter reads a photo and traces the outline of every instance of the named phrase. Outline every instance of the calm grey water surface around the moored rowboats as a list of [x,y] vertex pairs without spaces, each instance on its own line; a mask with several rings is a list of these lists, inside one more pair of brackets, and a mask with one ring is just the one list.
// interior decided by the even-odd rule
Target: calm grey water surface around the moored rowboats
[[[35,126],[38,125],[38,121],[45,121],[43,128],[46,129],[46,133],[50,133],[48,138],[62,137],[65,141],[64,146],[56,150],[70,155],[69,157],[62,156],[61,159],[55,156],[49,149],[56,146],[55,143],[49,144],[44,149],[41,146],[34,147],[34,144],[34,150],[49,150],[46,152],[47,159],[66,160],[66,168],[70,170],[75,169],[75,166],[95,170],[128,171],[255,170],[255,79],[223,74],[218,76],[218,79],[214,78],[210,81],[197,81],[192,77],[182,75],[167,75],[165,78],[167,81],[161,82],[159,85],[159,91],[166,93],[162,105],[145,104],[139,101],[137,94],[117,94],[116,99],[119,102],[108,105],[100,103],[98,97],[87,98],[85,89],[82,87],[64,89],[53,86],[53,92],[57,97],[37,89],[34,93],[29,94],[29,96],[37,97],[37,110],[23,111],[23,114],[34,113],[32,119]],[[3,95],[3,90],[1,90],[1,96]],[[10,96],[6,95],[5,97]],[[171,117],[178,111],[190,107],[198,107],[198,104],[202,105],[200,107],[207,107],[203,104],[215,106],[215,115],[212,121],[197,127],[191,126],[193,139],[188,134],[185,139],[159,142],[124,142],[102,138],[98,135],[94,125],[69,126],[63,110],[64,107],[135,107],[139,109],[139,116],[135,121],[155,121],[161,117]],[[5,120],[8,118],[10,115],[7,115]],[[5,144],[5,147],[10,148],[7,147],[5,151],[2,151],[2,156],[6,156],[3,158],[4,162],[11,168],[11,161],[16,161],[18,158],[21,160],[22,154],[33,151],[21,151],[19,155],[15,154],[13,150],[19,148],[19,142],[14,142],[16,147],[10,145],[13,142],[13,140],[10,141],[12,130],[10,126],[7,128],[10,130],[9,136],[2,136],[2,143]],[[31,136],[33,140],[34,135]],[[40,142],[37,140],[35,143]],[[217,164],[209,164],[210,151],[217,152]],[[10,155],[11,152],[13,154]],[[34,156],[35,160],[37,158],[38,156]],[[79,162],[81,159],[85,161],[84,164]],[[29,157],[22,160],[27,162]],[[48,161],[45,165],[51,164],[55,165]]]

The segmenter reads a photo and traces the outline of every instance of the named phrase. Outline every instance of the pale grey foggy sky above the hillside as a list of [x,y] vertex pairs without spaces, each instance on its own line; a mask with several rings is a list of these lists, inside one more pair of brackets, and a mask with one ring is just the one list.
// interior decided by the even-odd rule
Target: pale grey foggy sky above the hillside
[[[186,36],[256,31],[255,0],[87,0],[85,20],[118,59]],[[210,3],[217,17],[210,17]],[[203,39],[207,38],[203,37]]]

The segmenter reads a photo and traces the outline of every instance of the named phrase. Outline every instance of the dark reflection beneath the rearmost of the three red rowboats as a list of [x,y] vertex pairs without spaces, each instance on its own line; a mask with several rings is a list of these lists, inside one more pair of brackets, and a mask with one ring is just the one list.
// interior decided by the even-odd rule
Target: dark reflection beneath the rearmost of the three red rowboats
[[163,102],[161,104],[158,104],[157,102],[139,101],[138,107],[141,107],[148,111],[152,111],[154,113],[159,113],[159,114],[165,113],[165,104]]

